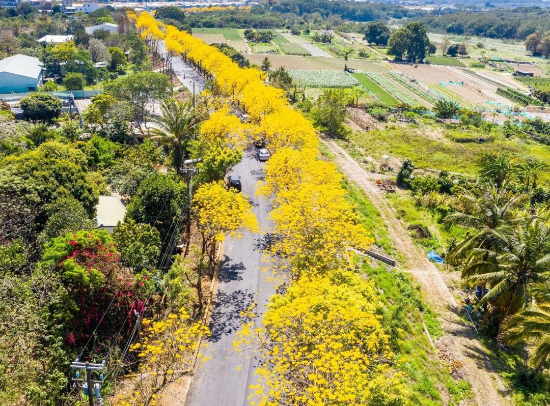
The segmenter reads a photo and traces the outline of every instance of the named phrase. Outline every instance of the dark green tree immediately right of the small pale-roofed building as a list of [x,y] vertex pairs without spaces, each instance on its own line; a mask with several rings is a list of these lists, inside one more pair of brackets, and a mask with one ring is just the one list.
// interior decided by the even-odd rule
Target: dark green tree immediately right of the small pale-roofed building
[[174,223],[182,215],[187,190],[185,183],[164,174],[153,174],[145,179],[128,204],[126,220],[147,223],[161,233],[162,251],[166,249],[169,234],[177,232]]

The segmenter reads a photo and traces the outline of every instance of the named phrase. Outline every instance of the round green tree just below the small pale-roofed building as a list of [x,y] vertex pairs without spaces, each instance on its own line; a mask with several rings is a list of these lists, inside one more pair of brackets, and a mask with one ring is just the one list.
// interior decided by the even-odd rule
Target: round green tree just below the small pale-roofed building
[[137,224],[128,219],[113,230],[114,246],[120,261],[134,273],[154,269],[161,254],[161,235],[149,224]]

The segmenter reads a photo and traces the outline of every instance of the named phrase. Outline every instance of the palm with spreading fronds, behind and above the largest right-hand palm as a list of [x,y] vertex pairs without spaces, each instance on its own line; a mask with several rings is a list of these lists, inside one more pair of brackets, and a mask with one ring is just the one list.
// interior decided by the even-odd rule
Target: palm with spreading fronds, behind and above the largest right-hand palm
[[484,182],[475,188],[460,192],[460,204],[463,209],[445,217],[449,226],[458,226],[468,230],[464,241],[457,244],[449,253],[448,259],[462,259],[469,256],[472,249],[491,248],[492,232],[502,226],[510,226],[525,221],[525,217],[516,216],[516,212],[527,201],[527,196],[510,196],[508,191],[494,183]]

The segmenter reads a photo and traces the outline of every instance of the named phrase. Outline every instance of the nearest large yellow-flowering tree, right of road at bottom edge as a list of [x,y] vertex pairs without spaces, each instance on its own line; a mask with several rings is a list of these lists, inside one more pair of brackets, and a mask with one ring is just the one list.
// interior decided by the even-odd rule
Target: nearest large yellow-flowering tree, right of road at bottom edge
[[251,322],[234,342],[239,351],[255,346],[263,360],[250,404],[406,404],[381,311],[373,283],[349,271],[303,276],[273,296],[263,327]]

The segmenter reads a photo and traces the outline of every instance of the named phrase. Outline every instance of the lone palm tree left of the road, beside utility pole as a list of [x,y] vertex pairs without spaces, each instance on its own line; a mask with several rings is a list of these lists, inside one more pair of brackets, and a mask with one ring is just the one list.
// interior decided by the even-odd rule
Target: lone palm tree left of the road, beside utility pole
[[180,102],[170,98],[161,105],[162,117],[149,118],[151,128],[147,135],[153,141],[169,143],[174,149],[174,168],[177,173],[185,158],[187,143],[194,136],[194,128],[199,123],[193,103]]

